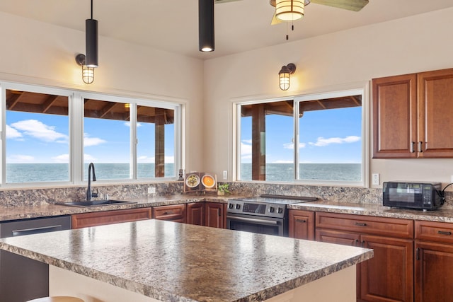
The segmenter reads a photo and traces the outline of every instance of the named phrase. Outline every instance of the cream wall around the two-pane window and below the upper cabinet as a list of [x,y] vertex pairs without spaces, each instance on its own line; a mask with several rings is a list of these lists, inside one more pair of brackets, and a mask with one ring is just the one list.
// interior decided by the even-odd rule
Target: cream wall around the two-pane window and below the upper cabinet
[[[204,75],[205,168],[231,175],[232,101],[362,88],[376,77],[451,68],[451,28],[453,8],[210,59]],[[277,73],[291,62],[297,71],[285,93]],[[380,173],[381,180],[449,183],[453,159],[370,160],[370,173]]]

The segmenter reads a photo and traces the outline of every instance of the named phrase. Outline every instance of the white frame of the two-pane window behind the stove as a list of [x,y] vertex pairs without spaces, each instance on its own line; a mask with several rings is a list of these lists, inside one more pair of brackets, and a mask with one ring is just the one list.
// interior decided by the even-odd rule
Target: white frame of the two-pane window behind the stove
[[[361,180],[360,181],[335,181],[335,180],[299,180],[299,148],[294,147],[294,178],[292,181],[267,181],[267,180],[241,180],[241,106],[253,105],[259,103],[273,103],[282,100],[292,100],[294,102],[294,115],[293,115],[293,140],[294,146],[299,146],[299,103],[308,100],[324,99],[324,98],[338,98],[349,95],[362,95],[362,122],[361,122]],[[369,187],[369,98],[368,98],[368,84],[362,88],[345,88],[344,90],[306,93],[299,95],[287,95],[280,98],[256,98],[254,100],[234,100],[233,101],[233,181],[239,182],[260,182],[260,183],[283,183],[283,184],[296,184],[296,185],[334,185],[334,186],[348,186],[348,187]]]

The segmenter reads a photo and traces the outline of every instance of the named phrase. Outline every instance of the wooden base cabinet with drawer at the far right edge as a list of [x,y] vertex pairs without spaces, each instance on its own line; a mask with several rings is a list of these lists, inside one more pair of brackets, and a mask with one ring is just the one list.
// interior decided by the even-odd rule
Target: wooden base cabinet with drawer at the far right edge
[[415,302],[453,301],[453,223],[415,221]]

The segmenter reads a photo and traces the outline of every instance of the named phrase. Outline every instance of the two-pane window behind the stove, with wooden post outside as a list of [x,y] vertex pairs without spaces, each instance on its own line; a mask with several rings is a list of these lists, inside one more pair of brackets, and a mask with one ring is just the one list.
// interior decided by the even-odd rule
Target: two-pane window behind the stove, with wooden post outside
[[239,104],[237,178],[363,184],[362,92],[354,92]]

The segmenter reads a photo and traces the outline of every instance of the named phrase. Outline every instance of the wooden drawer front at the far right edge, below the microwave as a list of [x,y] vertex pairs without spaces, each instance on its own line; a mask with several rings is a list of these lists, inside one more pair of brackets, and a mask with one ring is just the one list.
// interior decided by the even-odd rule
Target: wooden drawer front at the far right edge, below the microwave
[[453,243],[453,223],[417,220],[415,239]]

